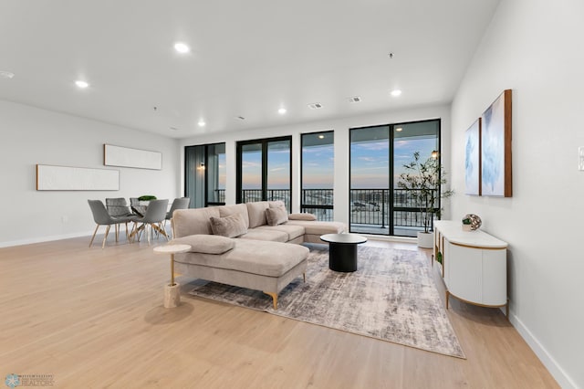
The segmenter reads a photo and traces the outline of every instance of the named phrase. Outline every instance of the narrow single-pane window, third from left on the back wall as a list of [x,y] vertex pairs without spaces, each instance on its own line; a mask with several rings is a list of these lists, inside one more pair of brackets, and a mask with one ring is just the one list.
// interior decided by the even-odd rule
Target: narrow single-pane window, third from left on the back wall
[[302,134],[300,211],[334,220],[334,132]]

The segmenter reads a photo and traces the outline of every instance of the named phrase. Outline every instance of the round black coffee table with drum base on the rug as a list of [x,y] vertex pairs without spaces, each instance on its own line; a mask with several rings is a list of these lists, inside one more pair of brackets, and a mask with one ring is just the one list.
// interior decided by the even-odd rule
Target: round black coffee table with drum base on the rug
[[334,271],[357,270],[357,245],[367,242],[367,237],[357,234],[327,234],[320,240],[328,242],[328,268]]

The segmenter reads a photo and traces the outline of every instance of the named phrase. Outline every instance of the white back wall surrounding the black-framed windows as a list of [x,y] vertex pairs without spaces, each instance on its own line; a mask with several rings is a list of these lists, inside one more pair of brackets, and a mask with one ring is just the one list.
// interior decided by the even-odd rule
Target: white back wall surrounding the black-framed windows
[[[403,121],[422,121],[425,119],[442,119],[443,154],[450,153],[450,107],[446,105],[422,107],[412,110],[390,111],[381,114],[354,116],[330,121],[313,121],[297,125],[275,128],[256,129],[252,131],[233,131],[218,134],[194,136],[181,141],[181,154],[184,158],[184,147],[196,144],[225,142],[225,163],[227,179],[225,185],[225,202],[235,204],[235,143],[250,139],[271,138],[277,136],[292,136],[292,211],[299,211],[300,202],[300,134],[316,131],[335,131],[335,220],[349,224],[349,128],[378,124],[388,124]],[[449,171],[449,161],[444,161]],[[181,165],[184,169],[184,163]],[[183,174],[183,172],[182,172]],[[182,175],[183,176],[183,175]],[[447,217],[448,207],[445,206]]]

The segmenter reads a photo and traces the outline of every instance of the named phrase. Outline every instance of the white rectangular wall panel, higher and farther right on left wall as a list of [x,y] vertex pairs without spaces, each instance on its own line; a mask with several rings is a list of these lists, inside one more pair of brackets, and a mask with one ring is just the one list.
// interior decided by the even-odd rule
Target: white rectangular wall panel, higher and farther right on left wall
[[162,170],[162,152],[104,144],[103,164],[106,166]]

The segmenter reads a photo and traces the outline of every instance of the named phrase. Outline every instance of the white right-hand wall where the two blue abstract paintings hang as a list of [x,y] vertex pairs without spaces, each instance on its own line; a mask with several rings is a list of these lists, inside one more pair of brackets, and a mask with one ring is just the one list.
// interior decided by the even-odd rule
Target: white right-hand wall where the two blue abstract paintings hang
[[[452,215],[509,242],[511,321],[562,386],[584,387],[584,2],[502,0],[452,108]],[[513,89],[513,197],[464,193],[464,131]]]

